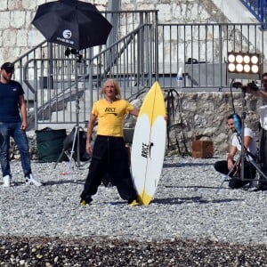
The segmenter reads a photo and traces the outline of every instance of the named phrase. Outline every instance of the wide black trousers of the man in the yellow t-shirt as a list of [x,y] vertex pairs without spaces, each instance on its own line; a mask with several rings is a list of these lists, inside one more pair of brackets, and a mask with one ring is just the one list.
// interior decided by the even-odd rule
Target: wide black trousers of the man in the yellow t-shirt
[[93,145],[93,155],[85,181],[82,199],[90,199],[96,194],[105,175],[117,187],[121,198],[132,202],[137,198],[128,164],[128,155],[122,137],[97,135]]

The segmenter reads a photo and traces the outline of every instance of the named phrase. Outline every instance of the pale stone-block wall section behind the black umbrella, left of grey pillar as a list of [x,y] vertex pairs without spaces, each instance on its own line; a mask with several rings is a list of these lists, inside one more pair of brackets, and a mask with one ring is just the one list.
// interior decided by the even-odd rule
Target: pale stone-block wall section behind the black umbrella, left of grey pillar
[[[15,61],[44,41],[31,24],[39,4],[53,0],[1,0],[0,4],[0,62]],[[86,0],[99,10],[106,10],[107,0]]]

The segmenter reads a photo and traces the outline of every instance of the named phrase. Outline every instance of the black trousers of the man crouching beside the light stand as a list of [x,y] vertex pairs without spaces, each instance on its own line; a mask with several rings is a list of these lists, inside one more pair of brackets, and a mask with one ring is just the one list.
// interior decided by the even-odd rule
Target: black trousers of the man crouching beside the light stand
[[[221,161],[215,162],[214,168],[217,172],[221,174],[225,174],[225,175],[229,174],[227,160],[221,160]],[[237,167],[235,166],[234,169],[229,174],[229,176],[233,178],[229,182],[229,187],[231,187],[232,189],[241,188],[242,186],[249,183],[249,181],[240,180],[240,170],[239,170],[239,173],[234,177],[233,174],[235,174],[236,170],[237,170]],[[249,162],[245,160],[244,161],[244,179],[254,179],[255,174],[256,174],[255,166],[253,166],[252,164],[250,164]]]

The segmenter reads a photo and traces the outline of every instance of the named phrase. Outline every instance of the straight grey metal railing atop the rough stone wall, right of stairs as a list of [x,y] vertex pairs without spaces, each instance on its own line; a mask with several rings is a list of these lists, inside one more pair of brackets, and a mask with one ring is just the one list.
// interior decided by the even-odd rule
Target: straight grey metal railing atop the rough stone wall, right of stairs
[[163,86],[176,87],[176,74],[184,73],[184,89],[223,91],[229,88],[227,53],[260,53],[264,64],[261,24],[158,25],[158,76]]

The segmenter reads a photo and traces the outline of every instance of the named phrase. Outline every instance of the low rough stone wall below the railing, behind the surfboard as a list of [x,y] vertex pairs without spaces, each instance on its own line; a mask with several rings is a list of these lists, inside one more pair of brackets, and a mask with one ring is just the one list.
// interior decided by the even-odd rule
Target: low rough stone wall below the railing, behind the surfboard
[[[167,99],[167,92],[166,99]],[[170,93],[169,93],[170,94]],[[180,93],[174,92],[174,114],[169,110],[170,142],[167,145],[168,153],[179,153],[177,142],[182,152],[186,148],[191,152],[192,142],[195,140],[210,140],[214,143],[214,155],[226,154],[231,142],[231,132],[226,127],[226,117],[233,113],[231,93]],[[243,94],[233,93],[233,102],[236,113],[241,115]],[[142,96],[143,97],[143,96]],[[140,107],[141,99],[133,101],[134,106]],[[170,98],[169,98],[170,99]],[[179,102],[180,101],[180,102]],[[181,105],[179,105],[181,103]],[[246,96],[245,125],[254,130],[258,136],[258,107],[261,101],[255,97]],[[166,103],[167,106],[167,103]],[[125,127],[134,127],[135,119],[126,117]],[[67,129],[69,132],[71,129]],[[30,153],[36,159],[36,134],[28,132]],[[20,158],[12,142],[12,158]]]

